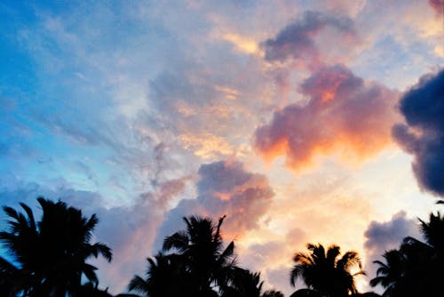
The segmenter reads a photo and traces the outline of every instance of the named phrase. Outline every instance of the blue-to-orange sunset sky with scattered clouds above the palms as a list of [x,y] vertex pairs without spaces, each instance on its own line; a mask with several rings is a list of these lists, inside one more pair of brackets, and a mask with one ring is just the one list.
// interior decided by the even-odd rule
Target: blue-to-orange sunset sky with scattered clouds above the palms
[[441,0],[2,1],[1,205],[97,213],[112,293],[191,214],[226,214],[266,288],[294,291],[292,255],[321,243],[360,253],[368,290],[442,211],[443,17]]

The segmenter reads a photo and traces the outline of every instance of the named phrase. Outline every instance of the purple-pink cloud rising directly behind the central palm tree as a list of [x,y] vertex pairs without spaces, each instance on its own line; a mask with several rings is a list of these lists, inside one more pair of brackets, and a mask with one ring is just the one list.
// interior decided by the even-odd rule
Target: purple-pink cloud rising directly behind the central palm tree
[[184,229],[182,217],[208,216],[213,220],[226,215],[223,232],[232,240],[258,227],[259,219],[272,203],[274,191],[265,175],[250,173],[236,160],[218,161],[199,168],[197,197],[183,199],[166,215],[158,232],[156,246],[163,237]]

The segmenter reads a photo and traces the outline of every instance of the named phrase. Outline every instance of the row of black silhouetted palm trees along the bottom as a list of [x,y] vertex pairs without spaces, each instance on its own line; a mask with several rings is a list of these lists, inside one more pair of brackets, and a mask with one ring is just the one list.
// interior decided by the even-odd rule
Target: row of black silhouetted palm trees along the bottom
[[[27,297],[112,297],[99,289],[97,268],[91,257],[112,261],[111,249],[91,243],[98,224],[95,214],[64,202],[37,198],[42,216],[36,221],[28,205],[21,211],[4,206],[8,217],[0,232],[0,243],[8,257],[0,257],[0,296]],[[284,297],[275,290],[263,290],[260,272],[240,267],[234,242],[227,245],[221,236],[224,217],[184,218],[186,229],[165,237],[163,249],[147,258],[145,276],[134,276],[128,292],[119,297]],[[383,297],[444,295],[444,217],[431,213],[421,221],[424,241],[406,237],[398,249],[386,251],[377,276],[369,285],[382,285]],[[289,297],[375,297],[358,292],[355,277],[365,274],[359,254],[341,253],[339,246],[308,244],[307,252],[297,252],[289,271],[295,286],[301,279],[306,288]]]

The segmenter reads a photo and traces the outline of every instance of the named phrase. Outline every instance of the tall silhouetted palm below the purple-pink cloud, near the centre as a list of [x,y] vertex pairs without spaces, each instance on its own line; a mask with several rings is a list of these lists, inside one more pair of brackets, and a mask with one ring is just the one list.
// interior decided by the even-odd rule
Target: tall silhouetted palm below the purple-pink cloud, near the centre
[[221,217],[215,226],[207,218],[184,218],[186,230],[163,241],[164,252],[175,251],[183,259],[195,296],[217,296],[216,287],[226,285],[234,267],[234,242],[224,247],[220,235],[224,219]]

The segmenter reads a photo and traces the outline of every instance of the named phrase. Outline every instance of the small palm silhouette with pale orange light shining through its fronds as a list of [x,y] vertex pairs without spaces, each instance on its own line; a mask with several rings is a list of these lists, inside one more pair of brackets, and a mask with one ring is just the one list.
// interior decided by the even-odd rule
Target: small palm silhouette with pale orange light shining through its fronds
[[[294,286],[297,278],[302,277],[305,285],[321,296],[341,297],[358,293],[354,277],[364,274],[358,253],[347,252],[338,259],[341,253],[337,245],[331,245],[325,251],[322,245],[308,244],[307,249],[310,253],[297,253],[293,258],[296,265],[290,273],[291,285]],[[353,267],[359,271],[352,274]],[[316,294],[307,293],[307,296],[310,295]]]

